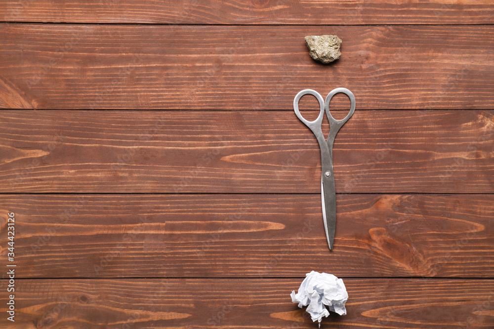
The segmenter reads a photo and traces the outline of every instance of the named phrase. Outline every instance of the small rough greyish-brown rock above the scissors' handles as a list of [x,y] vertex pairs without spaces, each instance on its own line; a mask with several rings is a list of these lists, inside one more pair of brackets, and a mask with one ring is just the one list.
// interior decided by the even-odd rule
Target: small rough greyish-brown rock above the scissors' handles
[[328,64],[341,56],[339,51],[341,39],[338,36],[307,36],[305,42],[307,42],[310,57],[316,61]]

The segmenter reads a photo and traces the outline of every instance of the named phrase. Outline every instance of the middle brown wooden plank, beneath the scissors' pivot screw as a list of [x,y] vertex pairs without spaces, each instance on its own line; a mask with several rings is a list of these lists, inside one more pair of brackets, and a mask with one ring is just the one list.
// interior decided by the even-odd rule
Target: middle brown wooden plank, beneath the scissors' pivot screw
[[[357,110],[334,144],[336,191],[492,193],[493,117],[493,110]],[[319,146],[292,111],[3,110],[0,145],[0,192],[319,193],[321,186]]]

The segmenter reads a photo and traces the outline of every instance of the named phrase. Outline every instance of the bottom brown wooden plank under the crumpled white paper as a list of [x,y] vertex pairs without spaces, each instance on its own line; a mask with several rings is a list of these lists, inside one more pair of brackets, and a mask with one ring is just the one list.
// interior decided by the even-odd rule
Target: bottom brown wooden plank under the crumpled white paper
[[[303,275],[303,274],[302,274]],[[6,280],[2,280],[5,285]],[[291,302],[297,279],[16,281],[2,328],[317,328]],[[321,328],[492,328],[493,280],[344,279],[347,315]]]

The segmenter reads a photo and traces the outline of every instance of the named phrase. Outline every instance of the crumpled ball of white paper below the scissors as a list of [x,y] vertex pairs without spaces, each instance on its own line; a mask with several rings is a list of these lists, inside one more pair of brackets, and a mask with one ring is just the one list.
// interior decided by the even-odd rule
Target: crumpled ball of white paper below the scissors
[[[312,271],[305,275],[304,281],[300,284],[298,292],[292,291],[291,301],[298,303],[298,307],[307,306],[307,312],[311,315],[312,321],[319,322],[329,315],[329,311],[339,315],[345,315],[345,303],[348,299],[343,280],[332,274]],[[326,308],[329,307],[329,311]]]

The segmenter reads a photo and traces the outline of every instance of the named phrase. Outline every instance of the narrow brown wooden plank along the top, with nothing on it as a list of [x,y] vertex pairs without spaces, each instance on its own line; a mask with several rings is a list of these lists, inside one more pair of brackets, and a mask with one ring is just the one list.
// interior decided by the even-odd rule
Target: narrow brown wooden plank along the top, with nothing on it
[[13,22],[165,24],[492,24],[490,1],[4,0]]

